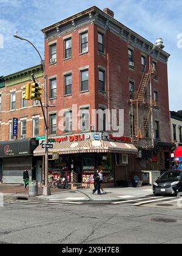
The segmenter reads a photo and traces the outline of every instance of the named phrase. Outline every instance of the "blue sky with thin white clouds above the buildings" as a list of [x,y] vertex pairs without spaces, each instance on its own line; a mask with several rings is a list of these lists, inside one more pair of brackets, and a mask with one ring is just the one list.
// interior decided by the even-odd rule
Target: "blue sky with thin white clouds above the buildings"
[[152,43],[163,38],[170,54],[170,110],[182,110],[182,0],[0,0],[0,76],[40,63],[29,43],[13,38],[16,31],[44,57],[40,30],[92,5],[113,10],[116,20]]

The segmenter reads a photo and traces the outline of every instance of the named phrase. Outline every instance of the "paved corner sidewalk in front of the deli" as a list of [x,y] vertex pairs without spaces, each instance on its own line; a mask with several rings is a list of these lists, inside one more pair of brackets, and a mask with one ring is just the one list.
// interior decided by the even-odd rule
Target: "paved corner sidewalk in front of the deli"
[[152,195],[152,186],[141,188],[107,188],[106,194],[92,194],[92,189],[84,188],[80,190],[59,190],[52,189],[50,196],[42,196],[42,188],[39,188],[39,196],[29,197],[29,191],[24,190],[22,185],[0,184],[0,192],[5,197],[27,197],[30,201],[55,201],[55,202],[80,202],[80,201],[116,201],[122,199],[132,199],[132,197],[144,197]]

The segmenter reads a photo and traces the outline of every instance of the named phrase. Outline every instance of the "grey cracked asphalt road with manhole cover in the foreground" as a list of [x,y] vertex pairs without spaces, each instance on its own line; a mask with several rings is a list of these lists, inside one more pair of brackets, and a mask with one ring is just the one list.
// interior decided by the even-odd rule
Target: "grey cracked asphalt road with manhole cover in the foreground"
[[0,218],[0,243],[182,243],[181,208],[7,201]]

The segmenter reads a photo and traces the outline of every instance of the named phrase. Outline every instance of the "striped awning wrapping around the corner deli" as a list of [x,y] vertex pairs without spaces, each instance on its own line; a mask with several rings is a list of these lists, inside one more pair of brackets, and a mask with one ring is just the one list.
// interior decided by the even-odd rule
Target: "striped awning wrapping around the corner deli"
[[[136,154],[138,149],[131,143],[121,143],[104,140],[84,140],[78,142],[53,143],[53,149],[49,149],[49,155],[53,152],[58,152],[59,155],[64,154],[78,154],[78,153],[123,153],[123,154]],[[33,151],[34,156],[44,155],[45,149],[39,145],[38,148]]]

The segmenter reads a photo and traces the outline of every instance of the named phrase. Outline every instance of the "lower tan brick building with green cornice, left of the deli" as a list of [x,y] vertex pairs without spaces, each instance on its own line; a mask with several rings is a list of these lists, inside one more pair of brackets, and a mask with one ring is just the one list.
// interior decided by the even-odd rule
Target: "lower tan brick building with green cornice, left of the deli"
[[[41,172],[38,166],[37,173],[32,174],[31,170],[38,160],[33,159],[33,149],[38,146],[33,138],[44,135],[42,111],[38,107],[39,102],[22,100],[23,87],[30,81],[31,73],[43,86],[41,65],[1,77],[0,80],[0,181],[4,183],[21,183],[25,167],[33,179]],[[13,118],[18,119],[17,137],[13,137]]]

